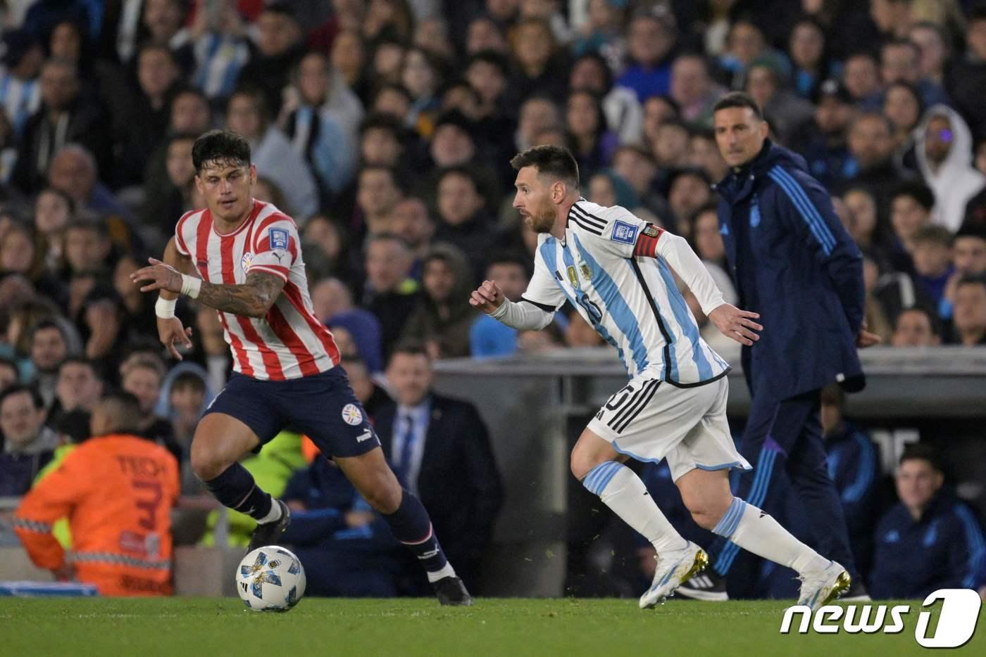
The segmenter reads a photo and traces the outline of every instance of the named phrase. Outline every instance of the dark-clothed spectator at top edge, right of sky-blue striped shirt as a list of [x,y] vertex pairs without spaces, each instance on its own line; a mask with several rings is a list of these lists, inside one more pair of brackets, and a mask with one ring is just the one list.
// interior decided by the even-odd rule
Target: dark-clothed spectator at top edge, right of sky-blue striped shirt
[[[288,85],[289,76],[305,51],[301,26],[291,3],[272,2],[257,17],[256,28],[256,51],[241,69],[237,86],[261,90],[264,106],[271,116],[277,116],[281,111],[281,90]],[[255,153],[253,157],[256,158]]]

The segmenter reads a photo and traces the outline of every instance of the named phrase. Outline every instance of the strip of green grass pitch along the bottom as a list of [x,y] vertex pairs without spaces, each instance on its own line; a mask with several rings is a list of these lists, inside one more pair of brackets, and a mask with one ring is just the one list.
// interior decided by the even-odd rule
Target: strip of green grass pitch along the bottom
[[[783,601],[671,600],[644,612],[636,600],[480,599],[444,608],[430,599],[308,598],[287,614],[259,614],[229,598],[2,598],[0,655],[927,654],[914,640],[920,603],[909,604],[899,634],[782,635]],[[986,655],[984,615],[950,654]]]

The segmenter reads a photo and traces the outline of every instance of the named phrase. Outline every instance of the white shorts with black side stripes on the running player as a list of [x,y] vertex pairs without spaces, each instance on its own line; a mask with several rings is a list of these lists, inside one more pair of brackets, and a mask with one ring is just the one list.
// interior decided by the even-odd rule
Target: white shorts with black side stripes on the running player
[[729,391],[726,376],[693,388],[635,376],[606,401],[589,428],[638,461],[667,458],[674,481],[695,468],[751,470],[726,420]]

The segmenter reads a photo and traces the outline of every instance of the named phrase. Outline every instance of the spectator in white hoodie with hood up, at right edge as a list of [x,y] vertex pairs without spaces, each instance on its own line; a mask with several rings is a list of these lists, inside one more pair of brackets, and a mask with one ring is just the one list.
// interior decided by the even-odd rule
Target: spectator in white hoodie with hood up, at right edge
[[986,176],[972,165],[968,126],[950,107],[935,105],[921,120],[916,149],[921,175],[935,191],[934,222],[958,230],[966,203],[986,185]]

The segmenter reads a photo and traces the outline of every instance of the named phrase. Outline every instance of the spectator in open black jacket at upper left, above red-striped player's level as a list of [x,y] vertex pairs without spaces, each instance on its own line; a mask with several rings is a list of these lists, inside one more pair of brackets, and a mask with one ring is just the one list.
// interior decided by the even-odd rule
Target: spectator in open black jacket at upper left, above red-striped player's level
[[96,169],[111,171],[106,117],[95,101],[80,95],[75,64],[49,59],[41,68],[39,84],[41,105],[24,126],[13,184],[26,194],[36,192],[55,155],[76,142],[94,154],[94,178]]

